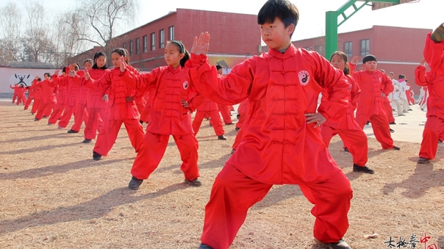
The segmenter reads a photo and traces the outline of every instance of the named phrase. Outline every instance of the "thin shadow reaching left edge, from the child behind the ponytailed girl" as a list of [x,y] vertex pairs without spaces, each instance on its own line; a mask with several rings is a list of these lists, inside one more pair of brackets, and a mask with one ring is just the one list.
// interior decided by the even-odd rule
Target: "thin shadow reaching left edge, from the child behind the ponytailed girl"
[[37,178],[50,176],[53,174],[63,174],[69,172],[70,170],[83,169],[87,167],[98,167],[102,165],[109,165],[112,163],[119,163],[124,160],[129,160],[130,158],[116,159],[116,160],[80,160],[78,162],[67,163],[65,165],[53,165],[47,167],[39,167],[35,169],[25,169],[20,172],[12,173],[0,173],[0,180],[16,180],[22,178]]

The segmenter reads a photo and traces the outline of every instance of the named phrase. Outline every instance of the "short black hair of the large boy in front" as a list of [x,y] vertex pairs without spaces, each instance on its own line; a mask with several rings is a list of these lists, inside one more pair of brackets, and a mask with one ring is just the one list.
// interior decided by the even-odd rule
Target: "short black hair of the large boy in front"
[[296,28],[299,21],[299,10],[287,0],[268,0],[257,14],[257,24],[273,23],[276,17],[284,23],[285,28],[290,24],[294,24]]

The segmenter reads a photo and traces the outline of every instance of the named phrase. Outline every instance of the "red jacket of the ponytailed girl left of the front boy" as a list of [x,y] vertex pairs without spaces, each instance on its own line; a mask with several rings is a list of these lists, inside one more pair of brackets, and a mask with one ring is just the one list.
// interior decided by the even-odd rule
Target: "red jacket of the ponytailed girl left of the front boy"
[[[125,71],[122,80],[137,91],[154,91],[146,131],[178,136],[194,133],[191,111],[202,104],[204,98],[191,86],[187,69],[160,66],[142,75]],[[182,107],[181,100],[186,100],[189,108]]]

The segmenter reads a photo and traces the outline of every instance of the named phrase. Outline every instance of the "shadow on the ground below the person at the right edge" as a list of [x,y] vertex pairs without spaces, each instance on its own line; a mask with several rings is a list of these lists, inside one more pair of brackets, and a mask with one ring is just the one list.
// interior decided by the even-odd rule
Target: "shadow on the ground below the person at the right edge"
[[402,196],[409,199],[418,199],[424,196],[431,187],[441,187],[444,179],[444,169],[433,169],[432,163],[416,164],[413,174],[400,183],[386,183],[382,188],[384,194],[390,194],[400,187],[404,189]]

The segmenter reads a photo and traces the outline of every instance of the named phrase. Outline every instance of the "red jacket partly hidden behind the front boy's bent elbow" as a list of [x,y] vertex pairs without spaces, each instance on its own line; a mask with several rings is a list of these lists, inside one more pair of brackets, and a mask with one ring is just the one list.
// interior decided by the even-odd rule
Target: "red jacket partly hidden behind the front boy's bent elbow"
[[[361,95],[361,89],[352,76],[345,75],[345,77],[347,77],[348,84],[350,84],[350,95],[348,98],[349,105],[347,112],[345,116],[342,116],[337,120],[327,120],[322,125],[327,125],[336,129],[361,129],[358,125],[356,125],[355,121],[355,110],[359,101],[359,95]],[[327,89],[323,89],[321,102],[327,100],[327,98]]]

